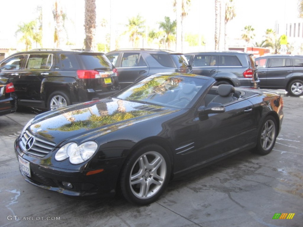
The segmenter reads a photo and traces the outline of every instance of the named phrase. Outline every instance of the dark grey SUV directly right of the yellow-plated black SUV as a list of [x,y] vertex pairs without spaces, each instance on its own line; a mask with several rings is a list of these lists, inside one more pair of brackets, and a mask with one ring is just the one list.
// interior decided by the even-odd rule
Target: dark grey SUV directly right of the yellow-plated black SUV
[[173,51],[119,49],[105,55],[118,70],[121,88],[156,73],[191,72],[184,55]]

